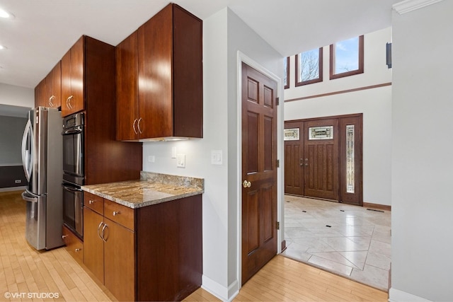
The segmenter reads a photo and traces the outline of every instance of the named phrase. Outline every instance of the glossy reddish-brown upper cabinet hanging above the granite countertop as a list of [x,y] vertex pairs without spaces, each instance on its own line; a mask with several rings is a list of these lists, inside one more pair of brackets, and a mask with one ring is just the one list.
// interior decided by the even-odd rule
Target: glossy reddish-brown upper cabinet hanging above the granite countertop
[[176,4],[116,49],[117,139],[202,137],[202,21]]

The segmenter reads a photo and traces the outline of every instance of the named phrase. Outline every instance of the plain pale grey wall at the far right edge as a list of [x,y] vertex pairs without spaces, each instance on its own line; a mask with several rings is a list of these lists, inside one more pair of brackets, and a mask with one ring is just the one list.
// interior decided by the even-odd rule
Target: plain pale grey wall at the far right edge
[[393,12],[391,301],[453,301],[452,11]]

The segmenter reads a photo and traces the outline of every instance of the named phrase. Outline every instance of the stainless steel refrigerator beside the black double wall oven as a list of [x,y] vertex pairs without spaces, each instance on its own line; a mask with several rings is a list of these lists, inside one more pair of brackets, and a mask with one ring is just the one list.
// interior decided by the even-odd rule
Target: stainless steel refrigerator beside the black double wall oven
[[62,115],[57,109],[38,107],[28,112],[22,138],[22,163],[28,188],[25,238],[36,250],[50,250],[62,241]]

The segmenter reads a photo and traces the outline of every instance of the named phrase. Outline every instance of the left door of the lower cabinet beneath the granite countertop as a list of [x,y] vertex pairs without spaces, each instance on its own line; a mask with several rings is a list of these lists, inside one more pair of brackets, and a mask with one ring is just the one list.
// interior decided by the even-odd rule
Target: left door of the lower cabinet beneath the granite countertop
[[[84,264],[104,283],[103,216],[84,207]],[[105,229],[104,229],[105,231]]]

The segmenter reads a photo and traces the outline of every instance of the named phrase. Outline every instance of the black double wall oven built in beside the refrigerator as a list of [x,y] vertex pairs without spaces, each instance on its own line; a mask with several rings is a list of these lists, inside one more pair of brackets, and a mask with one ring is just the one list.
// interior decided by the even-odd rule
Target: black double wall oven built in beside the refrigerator
[[84,238],[84,112],[63,120],[63,223]]

